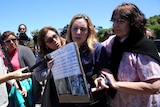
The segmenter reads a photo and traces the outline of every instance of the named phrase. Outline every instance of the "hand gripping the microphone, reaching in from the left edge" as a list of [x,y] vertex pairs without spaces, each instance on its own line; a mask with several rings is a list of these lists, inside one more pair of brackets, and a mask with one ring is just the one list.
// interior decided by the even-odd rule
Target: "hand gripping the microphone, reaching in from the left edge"
[[24,68],[18,69],[16,71],[13,71],[12,72],[13,78],[16,80],[24,80],[24,79],[30,77],[32,75],[31,72],[23,73],[23,71],[26,70],[27,68],[28,67],[24,67]]

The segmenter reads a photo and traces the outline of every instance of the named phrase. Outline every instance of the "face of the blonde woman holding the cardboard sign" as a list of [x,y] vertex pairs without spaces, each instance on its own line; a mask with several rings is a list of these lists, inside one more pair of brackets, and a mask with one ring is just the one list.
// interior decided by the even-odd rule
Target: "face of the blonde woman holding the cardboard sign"
[[85,19],[76,19],[71,27],[73,42],[77,42],[78,46],[82,46],[88,37],[88,26]]

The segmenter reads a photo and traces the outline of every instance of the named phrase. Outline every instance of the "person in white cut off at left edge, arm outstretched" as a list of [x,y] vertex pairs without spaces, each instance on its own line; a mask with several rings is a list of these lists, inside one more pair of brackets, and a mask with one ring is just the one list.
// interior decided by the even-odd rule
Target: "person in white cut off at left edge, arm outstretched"
[[0,57],[0,68],[0,107],[7,107],[9,101],[6,82],[12,85],[15,82],[12,79],[23,80],[30,77],[31,73],[22,73],[27,67],[7,73],[7,67],[4,65],[2,57]]

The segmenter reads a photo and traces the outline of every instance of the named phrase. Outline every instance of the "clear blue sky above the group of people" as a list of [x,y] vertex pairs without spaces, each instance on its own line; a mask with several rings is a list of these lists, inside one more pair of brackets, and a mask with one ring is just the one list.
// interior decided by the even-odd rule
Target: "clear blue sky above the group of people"
[[0,32],[18,33],[18,25],[27,26],[27,35],[45,26],[53,26],[58,32],[70,23],[72,17],[84,13],[95,26],[111,28],[113,10],[123,2],[134,3],[146,18],[160,15],[159,0],[1,0]]

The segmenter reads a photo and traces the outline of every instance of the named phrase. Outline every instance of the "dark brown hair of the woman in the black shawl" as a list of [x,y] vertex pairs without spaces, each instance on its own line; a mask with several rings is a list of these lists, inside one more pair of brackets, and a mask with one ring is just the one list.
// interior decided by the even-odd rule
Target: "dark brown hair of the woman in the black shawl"
[[122,3],[114,9],[111,20],[114,20],[115,15],[129,20],[131,34],[144,34],[146,18],[139,8],[132,3]]

